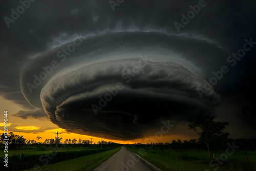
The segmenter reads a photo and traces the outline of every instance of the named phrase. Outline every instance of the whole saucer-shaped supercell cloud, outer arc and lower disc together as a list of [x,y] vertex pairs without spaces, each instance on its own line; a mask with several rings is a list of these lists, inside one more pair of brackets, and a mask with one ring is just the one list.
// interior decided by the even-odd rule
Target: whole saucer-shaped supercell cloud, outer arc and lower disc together
[[36,57],[20,74],[24,97],[63,129],[135,139],[160,118],[211,111],[221,101],[214,90],[200,98],[205,81],[182,52],[196,51],[191,44],[218,50],[208,42],[157,32],[106,33],[78,41],[69,56],[56,54],[74,47],[73,41]]

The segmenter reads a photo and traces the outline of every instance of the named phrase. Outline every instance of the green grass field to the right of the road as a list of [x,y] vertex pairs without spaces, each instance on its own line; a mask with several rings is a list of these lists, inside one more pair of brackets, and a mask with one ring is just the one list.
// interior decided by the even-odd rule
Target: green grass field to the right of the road
[[[132,152],[139,154],[138,147],[126,147]],[[249,165],[247,166],[246,158],[244,151],[236,151],[232,155],[228,156],[227,160],[222,164],[218,162],[212,163],[212,166],[209,165],[208,152],[207,151],[181,151],[181,155],[176,150],[164,149],[161,151],[159,147],[154,147],[153,149],[146,149],[146,154],[144,156],[140,155],[143,159],[151,162],[153,165],[157,166],[163,171],[175,170],[255,170],[256,166],[256,152],[247,151],[247,156],[249,159]],[[220,158],[220,155],[224,152],[215,152],[216,158]],[[142,153],[143,154],[143,153]],[[222,162],[220,160],[220,162]],[[216,164],[216,165],[214,165]]]

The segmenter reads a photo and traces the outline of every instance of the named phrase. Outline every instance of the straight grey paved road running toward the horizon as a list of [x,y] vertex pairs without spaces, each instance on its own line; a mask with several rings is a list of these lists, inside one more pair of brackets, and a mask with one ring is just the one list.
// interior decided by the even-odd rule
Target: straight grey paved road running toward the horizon
[[122,146],[120,151],[114,154],[94,171],[151,171],[160,170],[151,163],[138,157]]

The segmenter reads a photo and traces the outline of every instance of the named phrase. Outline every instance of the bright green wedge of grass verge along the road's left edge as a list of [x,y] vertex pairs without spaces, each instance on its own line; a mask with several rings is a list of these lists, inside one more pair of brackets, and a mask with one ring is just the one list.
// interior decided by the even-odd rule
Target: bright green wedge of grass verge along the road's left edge
[[[117,153],[121,147],[111,149],[110,151],[92,154],[84,157],[79,157],[71,160],[66,160],[63,162],[49,164],[46,166],[42,166],[35,170],[93,170],[94,168],[98,167],[102,162],[108,160],[111,156]],[[28,169],[30,171],[32,169]]]

